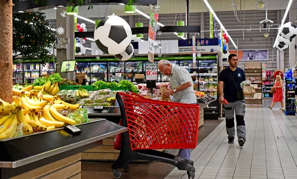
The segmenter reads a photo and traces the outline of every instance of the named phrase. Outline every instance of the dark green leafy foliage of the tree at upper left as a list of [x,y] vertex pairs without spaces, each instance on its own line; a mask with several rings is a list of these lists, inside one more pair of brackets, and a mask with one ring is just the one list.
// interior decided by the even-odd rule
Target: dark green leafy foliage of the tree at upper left
[[52,44],[55,32],[49,27],[44,12],[13,14],[13,58],[22,56],[24,60],[37,57],[43,62],[52,59]]

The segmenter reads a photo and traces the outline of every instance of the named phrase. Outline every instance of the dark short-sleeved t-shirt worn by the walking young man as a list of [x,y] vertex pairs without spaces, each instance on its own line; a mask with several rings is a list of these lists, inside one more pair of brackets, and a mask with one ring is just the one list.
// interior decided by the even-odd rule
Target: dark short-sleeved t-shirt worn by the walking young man
[[236,97],[237,89],[233,82],[231,74],[233,75],[233,78],[239,90],[242,89],[240,83],[246,80],[246,76],[245,71],[239,67],[237,67],[234,71],[232,71],[229,67],[221,71],[219,81],[224,82],[224,98],[228,102],[232,103],[238,101],[238,99]]

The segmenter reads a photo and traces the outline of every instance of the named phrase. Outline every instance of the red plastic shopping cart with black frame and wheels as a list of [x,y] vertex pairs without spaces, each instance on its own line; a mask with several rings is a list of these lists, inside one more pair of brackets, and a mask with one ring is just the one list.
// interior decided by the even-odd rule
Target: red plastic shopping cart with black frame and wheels
[[197,145],[199,105],[146,99],[137,94],[117,93],[122,114],[122,149],[111,169],[115,179],[117,169],[129,170],[130,161],[148,160],[168,163],[188,171],[195,178],[194,162],[153,149],[192,149]]

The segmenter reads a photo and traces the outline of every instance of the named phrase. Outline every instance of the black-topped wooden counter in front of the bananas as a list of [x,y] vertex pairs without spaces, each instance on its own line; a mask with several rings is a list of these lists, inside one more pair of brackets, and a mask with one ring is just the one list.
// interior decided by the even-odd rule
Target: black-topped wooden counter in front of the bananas
[[0,179],[81,179],[81,152],[127,131],[105,119],[0,140]]

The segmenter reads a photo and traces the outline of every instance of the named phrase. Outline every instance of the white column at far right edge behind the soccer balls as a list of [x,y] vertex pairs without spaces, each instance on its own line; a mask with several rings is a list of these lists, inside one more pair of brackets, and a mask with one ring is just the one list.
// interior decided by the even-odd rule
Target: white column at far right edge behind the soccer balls
[[[289,21],[295,23],[297,12],[296,12],[296,1],[292,2],[291,9],[289,11]],[[296,64],[296,38],[292,40],[292,42],[289,45],[289,69],[292,69],[292,67]]]

